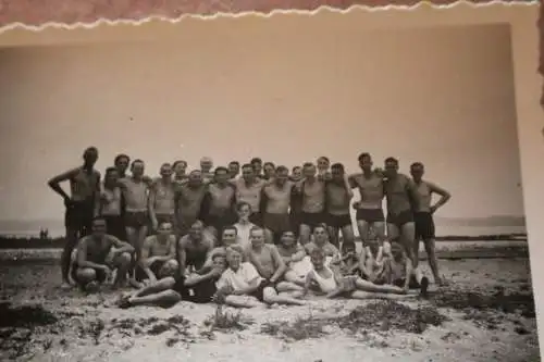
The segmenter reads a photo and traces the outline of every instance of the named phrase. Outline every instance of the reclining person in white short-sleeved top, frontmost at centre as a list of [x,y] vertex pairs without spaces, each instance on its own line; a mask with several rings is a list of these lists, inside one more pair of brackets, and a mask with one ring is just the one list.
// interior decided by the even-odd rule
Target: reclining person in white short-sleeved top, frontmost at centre
[[[217,287],[215,301],[238,308],[267,304],[304,305],[304,300],[294,298],[293,292],[277,292],[269,280],[262,278],[255,266],[243,262],[244,250],[232,246],[226,250],[227,270],[221,275]],[[280,289],[280,285],[277,288]]]

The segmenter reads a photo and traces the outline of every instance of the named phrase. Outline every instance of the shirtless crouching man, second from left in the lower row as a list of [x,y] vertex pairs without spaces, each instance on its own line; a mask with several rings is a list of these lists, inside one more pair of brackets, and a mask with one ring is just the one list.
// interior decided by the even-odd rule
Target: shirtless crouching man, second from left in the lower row
[[146,238],[136,270],[138,282],[146,279],[148,283],[157,282],[177,272],[176,240],[173,230],[171,223],[161,223],[157,229],[158,234]]

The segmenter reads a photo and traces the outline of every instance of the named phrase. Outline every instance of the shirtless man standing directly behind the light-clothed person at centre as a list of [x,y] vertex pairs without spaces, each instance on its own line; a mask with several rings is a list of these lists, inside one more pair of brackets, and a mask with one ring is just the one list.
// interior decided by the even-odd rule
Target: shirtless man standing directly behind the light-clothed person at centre
[[236,180],[235,186],[236,203],[248,203],[251,208],[249,221],[258,226],[262,226],[260,205],[264,182],[256,177],[254,166],[250,164],[242,166],[242,179]]

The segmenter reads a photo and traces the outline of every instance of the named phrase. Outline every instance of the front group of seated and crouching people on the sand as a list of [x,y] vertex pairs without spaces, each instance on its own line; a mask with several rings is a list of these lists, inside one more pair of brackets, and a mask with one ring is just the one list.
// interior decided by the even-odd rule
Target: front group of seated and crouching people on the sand
[[[170,223],[146,238],[138,261],[140,288],[121,296],[119,305],[170,307],[180,300],[219,302],[251,308],[306,303],[309,294],[327,298],[405,298],[410,289],[426,294],[429,280],[413,267],[405,248],[394,242],[391,253],[378,240],[360,253],[355,244],[342,252],[329,241],[326,225],[317,225],[305,246],[284,232],[277,246],[265,242],[264,230],[252,226],[249,245],[240,244],[235,226],[226,226],[219,247],[207,239],[203,224],[195,222],[180,240]],[[114,285],[126,275],[135,249],[108,235],[106,221],[92,222],[92,234],[77,245],[73,277],[82,288],[99,288],[115,271]]]

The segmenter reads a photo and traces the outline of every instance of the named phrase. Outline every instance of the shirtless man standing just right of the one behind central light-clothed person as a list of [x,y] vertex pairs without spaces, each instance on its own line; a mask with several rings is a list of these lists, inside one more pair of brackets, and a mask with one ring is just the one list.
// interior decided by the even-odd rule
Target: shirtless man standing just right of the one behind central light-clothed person
[[280,242],[282,234],[290,229],[289,204],[294,185],[288,177],[289,170],[277,166],[272,183],[262,188],[260,210],[267,242]]

